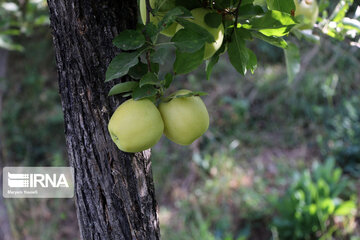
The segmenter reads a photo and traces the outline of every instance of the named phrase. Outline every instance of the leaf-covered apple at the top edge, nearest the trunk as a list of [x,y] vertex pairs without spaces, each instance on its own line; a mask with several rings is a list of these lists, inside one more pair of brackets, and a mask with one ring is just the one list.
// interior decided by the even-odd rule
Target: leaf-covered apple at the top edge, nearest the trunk
[[[175,0],[150,0],[150,6],[153,9],[159,9],[156,13],[156,16],[153,16],[150,13],[150,22],[157,25],[161,19],[165,16],[166,12],[175,8]],[[140,15],[141,20],[145,24],[146,23],[146,2],[145,0],[140,0]],[[177,23],[171,24],[168,28],[161,31],[161,34],[165,36],[172,37],[176,32]]]

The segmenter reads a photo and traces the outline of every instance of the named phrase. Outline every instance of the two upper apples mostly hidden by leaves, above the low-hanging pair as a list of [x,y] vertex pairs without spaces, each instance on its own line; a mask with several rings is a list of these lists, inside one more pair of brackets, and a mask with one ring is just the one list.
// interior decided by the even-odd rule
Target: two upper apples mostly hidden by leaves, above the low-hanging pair
[[[156,16],[150,13],[150,22],[157,25],[161,19],[165,16],[166,12],[175,8],[175,0],[150,0],[150,6],[154,9],[159,9]],[[189,19],[200,27],[205,28],[215,39],[215,42],[206,43],[204,51],[204,60],[211,58],[215,52],[221,47],[224,39],[224,25],[221,23],[218,27],[212,28],[205,22],[205,15],[208,13],[216,13],[216,11],[206,8],[195,8],[191,10],[193,19]],[[140,0],[140,15],[141,20],[145,24],[146,22],[146,3],[145,0]],[[161,33],[165,36],[172,37],[177,31],[183,27],[180,24],[173,23],[168,28],[164,29]]]

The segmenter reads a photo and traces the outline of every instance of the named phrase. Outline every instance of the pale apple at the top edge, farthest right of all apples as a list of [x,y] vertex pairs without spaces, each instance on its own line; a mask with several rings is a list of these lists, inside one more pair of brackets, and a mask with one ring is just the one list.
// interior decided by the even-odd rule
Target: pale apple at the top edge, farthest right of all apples
[[299,26],[299,29],[312,29],[319,16],[319,6],[316,0],[294,0],[295,16],[304,16],[305,22]]

